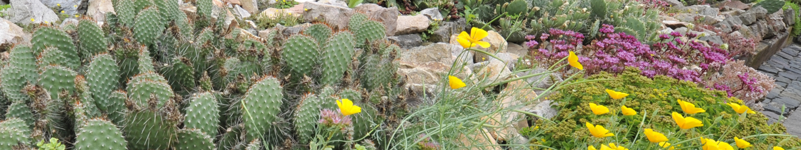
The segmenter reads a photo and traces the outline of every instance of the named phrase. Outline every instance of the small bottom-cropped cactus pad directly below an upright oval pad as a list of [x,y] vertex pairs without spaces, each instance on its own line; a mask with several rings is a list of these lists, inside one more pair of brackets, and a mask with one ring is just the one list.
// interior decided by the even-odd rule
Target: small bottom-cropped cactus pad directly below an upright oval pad
[[175,150],[213,150],[214,138],[195,128],[178,130]]

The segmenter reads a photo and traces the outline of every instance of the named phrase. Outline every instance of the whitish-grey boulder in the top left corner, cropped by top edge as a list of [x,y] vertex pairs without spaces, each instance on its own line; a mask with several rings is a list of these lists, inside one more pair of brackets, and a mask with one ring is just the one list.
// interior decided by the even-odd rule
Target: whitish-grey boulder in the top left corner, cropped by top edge
[[11,8],[6,12],[9,21],[23,25],[58,21],[58,15],[39,1],[11,0]]

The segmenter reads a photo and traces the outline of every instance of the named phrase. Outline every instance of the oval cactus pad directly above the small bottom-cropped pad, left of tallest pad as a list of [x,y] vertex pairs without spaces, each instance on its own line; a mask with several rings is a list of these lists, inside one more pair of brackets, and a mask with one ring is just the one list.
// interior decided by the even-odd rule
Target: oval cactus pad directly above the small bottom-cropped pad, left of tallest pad
[[209,93],[197,93],[191,98],[184,117],[184,128],[197,128],[207,135],[217,135],[219,105],[216,97]]

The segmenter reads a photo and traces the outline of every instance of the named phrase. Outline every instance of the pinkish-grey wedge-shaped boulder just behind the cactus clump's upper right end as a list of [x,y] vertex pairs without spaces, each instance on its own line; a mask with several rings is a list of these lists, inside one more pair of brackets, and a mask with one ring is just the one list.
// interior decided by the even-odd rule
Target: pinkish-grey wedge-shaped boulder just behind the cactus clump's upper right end
[[370,3],[356,6],[355,10],[356,12],[367,14],[368,18],[384,24],[384,27],[386,27],[385,32],[387,36],[396,35],[395,29],[397,26],[398,15],[400,15],[397,7],[393,6],[384,8],[382,6]]

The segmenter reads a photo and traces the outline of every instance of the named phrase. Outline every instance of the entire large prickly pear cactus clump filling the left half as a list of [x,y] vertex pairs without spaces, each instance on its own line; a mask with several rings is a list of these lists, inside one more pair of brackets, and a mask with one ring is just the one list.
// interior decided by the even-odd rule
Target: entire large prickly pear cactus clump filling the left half
[[348,149],[341,141],[385,141],[371,131],[402,117],[390,109],[404,107],[377,109],[405,103],[400,48],[380,22],[355,14],[347,30],[315,23],[259,38],[212,18],[210,0],[195,3],[198,15],[170,0],[115,0],[103,26],[38,25],[0,63],[0,149],[51,137],[78,150],[308,147],[327,134],[320,113],[350,99],[363,112],[338,116],[352,128],[328,143]]

